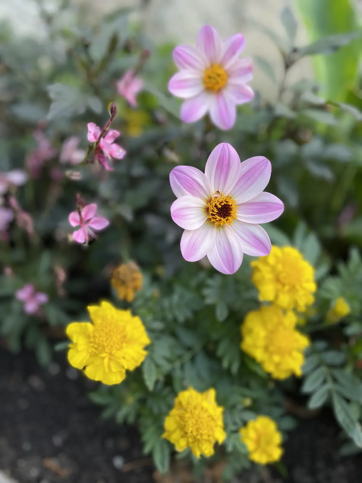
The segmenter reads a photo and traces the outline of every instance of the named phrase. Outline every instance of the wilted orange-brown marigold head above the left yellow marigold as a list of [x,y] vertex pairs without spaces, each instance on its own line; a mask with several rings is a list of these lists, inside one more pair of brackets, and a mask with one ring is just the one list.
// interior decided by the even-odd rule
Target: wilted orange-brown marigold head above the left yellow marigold
[[132,302],[135,292],[142,287],[142,274],[135,262],[123,263],[114,269],[111,285],[120,300]]

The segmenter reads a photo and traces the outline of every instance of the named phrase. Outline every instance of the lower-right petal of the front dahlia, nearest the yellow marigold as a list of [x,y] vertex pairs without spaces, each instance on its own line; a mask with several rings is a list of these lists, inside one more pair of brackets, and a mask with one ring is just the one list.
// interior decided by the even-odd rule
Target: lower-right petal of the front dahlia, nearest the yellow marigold
[[271,242],[265,229],[260,225],[234,220],[231,228],[240,238],[244,253],[251,256],[269,255]]

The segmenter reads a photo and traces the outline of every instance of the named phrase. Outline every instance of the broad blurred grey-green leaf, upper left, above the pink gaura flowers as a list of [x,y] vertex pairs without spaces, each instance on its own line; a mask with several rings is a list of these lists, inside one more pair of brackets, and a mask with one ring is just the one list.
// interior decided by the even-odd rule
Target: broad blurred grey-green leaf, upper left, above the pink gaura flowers
[[47,115],[48,120],[85,113],[87,97],[73,85],[52,84],[47,86],[47,91],[52,100]]

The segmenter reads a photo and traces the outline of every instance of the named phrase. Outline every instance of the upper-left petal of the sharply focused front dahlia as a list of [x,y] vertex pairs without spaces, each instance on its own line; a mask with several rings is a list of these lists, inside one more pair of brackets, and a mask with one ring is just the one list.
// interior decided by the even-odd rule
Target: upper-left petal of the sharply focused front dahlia
[[177,198],[192,195],[200,199],[209,199],[212,196],[208,178],[193,166],[176,166],[170,172],[170,185]]

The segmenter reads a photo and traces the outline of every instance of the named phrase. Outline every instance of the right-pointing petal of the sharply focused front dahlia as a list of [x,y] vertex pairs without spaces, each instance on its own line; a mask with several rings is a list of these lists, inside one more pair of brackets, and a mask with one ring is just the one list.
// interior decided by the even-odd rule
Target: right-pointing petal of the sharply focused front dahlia
[[279,198],[271,193],[260,193],[255,198],[238,205],[237,219],[246,223],[268,223],[284,211],[284,205]]

